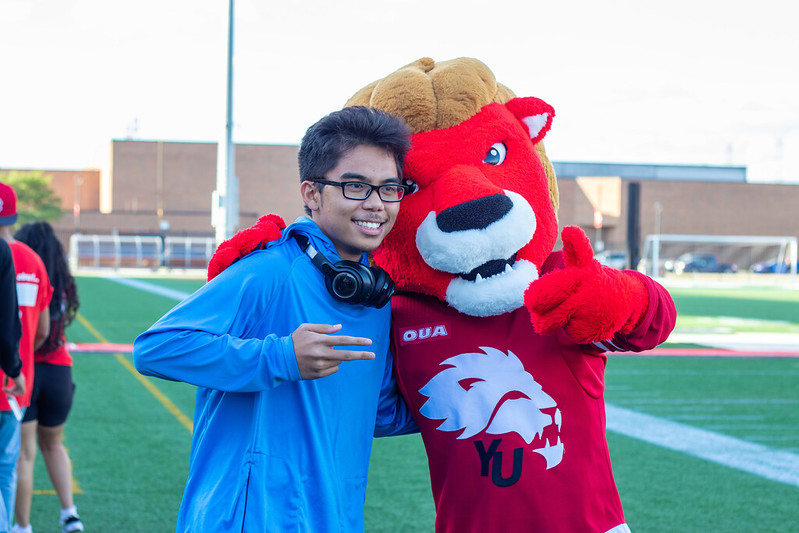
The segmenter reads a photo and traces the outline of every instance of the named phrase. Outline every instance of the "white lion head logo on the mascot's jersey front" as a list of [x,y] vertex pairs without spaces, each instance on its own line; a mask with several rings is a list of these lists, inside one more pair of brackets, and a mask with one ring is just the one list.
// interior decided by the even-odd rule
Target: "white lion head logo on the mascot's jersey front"
[[[547,461],[547,469],[563,459],[560,441],[561,414],[555,400],[544,392],[533,376],[524,369],[513,352],[503,353],[481,346],[484,353],[464,353],[450,357],[441,366],[448,366],[419,392],[428,397],[420,412],[432,420],[444,421],[441,431],[463,429],[459,439],[466,439],[485,430],[491,435],[517,433],[527,444],[537,437],[544,446],[533,449]],[[553,414],[547,414],[543,410]],[[544,428],[555,425],[557,442],[544,439]]]

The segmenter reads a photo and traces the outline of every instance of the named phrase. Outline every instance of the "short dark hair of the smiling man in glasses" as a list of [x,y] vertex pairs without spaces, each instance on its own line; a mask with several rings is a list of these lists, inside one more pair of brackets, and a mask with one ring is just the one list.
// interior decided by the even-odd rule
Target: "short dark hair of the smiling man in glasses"
[[[410,127],[399,117],[371,107],[345,107],[323,117],[305,132],[297,156],[300,181],[324,176],[341,156],[360,145],[376,146],[390,153],[397,164],[397,177],[402,180],[410,137]],[[307,206],[305,212],[311,214]]]

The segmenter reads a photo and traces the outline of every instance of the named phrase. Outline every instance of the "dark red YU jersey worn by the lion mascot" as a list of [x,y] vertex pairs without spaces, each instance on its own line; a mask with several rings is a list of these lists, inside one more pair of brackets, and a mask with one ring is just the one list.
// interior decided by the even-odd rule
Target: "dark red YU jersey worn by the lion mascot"
[[[603,348],[665,340],[673,303],[645,283],[643,323]],[[537,334],[524,308],[473,317],[417,294],[391,303],[395,368],[427,449],[437,532],[627,531],[605,439],[604,349]]]

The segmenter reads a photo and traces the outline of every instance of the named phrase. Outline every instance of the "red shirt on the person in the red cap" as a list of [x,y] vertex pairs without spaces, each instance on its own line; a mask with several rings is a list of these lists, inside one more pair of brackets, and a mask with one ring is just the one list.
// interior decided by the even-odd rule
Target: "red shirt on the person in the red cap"
[[[9,246],[14,255],[14,270],[17,273],[17,298],[19,316],[22,320],[19,357],[22,359],[22,373],[25,375],[25,393],[17,396],[17,402],[20,407],[27,407],[30,405],[33,391],[33,340],[39,325],[39,314],[50,305],[53,288],[50,286],[44,263],[36,252],[19,241],[10,242]],[[6,395],[0,394],[0,410],[9,409]]]

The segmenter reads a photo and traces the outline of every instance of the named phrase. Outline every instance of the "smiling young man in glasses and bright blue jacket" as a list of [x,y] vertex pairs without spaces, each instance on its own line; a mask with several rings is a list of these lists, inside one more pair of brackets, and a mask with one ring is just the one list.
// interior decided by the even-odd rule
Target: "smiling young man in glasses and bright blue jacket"
[[406,190],[409,135],[364,107],[311,126],[310,219],[136,339],[141,373],[198,386],[177,531],[363,531],[372,437],[416,431],[388,353],[390,292],[366,266]]

